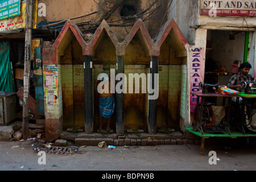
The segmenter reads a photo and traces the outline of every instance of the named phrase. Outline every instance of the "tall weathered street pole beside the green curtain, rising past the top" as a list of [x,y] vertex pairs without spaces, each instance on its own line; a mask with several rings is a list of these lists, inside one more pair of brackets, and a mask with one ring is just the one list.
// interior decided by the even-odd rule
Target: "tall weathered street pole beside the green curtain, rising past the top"
[[29,96],[30,96],[30,67],[31,67],[31,40],[32,40],[32,0],[27,0],[26,5],[26,38],[24,57],[24,93],[23,93],[23,130],[22,137],[28,137],[28,117],[29,117]]

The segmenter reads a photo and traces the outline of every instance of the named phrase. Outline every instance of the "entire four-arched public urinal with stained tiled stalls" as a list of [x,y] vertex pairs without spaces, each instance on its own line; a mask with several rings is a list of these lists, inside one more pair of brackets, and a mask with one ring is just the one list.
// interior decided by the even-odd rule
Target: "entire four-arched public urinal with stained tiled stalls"
[[[85,134],[97,132],[97,77],[106,63],[115,78],[119,73],[126,78],[114,80],[115,86],[123,83],[123,92],[114,94],[115,112],[110,125],[114,133],[154,134],[179,128],[187,117],[187,46],[174,20],[152,39],[139,19],[122,41],[105,20],[91,39],[68,20],[55,43],[45,42],[43,47],[48,139],[59,137],[69,128]],[[154,93],[148,90],[150,83]],[[104,119],[103,128],[106,122]]]

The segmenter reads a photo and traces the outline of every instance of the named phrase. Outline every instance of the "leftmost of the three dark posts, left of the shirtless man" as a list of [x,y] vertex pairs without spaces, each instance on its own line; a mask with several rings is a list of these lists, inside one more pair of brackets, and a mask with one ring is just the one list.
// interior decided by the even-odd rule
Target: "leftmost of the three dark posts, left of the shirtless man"
[[85,133],[93,133],[92,56],[84,56]]

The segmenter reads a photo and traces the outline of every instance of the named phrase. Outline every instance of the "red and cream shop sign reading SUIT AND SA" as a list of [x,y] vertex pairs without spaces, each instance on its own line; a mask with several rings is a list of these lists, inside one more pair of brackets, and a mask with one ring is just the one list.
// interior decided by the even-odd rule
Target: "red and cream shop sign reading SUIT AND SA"
[[256,16],[255,0],[200,2],[200,14],[209,16]]

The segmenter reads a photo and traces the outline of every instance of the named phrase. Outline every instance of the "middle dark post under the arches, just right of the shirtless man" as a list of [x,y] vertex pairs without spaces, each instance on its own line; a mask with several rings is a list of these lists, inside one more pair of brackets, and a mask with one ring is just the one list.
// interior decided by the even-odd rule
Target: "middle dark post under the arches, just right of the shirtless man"
[[[117,56],[117,74],[118,73],[125,73],[125,59],[124,56]],[[117,84],[120,80],[117,81]],[[122,80],[124,82],[124,80]],[[124,86],[125,84],[123,84]],[[125,88],[122,88],[123,90]],[[125,94],[124,93],[117,93],[116,94],[116,101],[115,101],[115,108],[116,108],[116,132],[118,135],[124,135],[124,122],[123,122],[123,110],[124,110],[124,102],[125,102]]]

